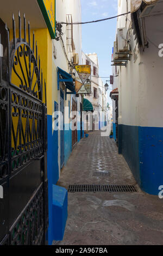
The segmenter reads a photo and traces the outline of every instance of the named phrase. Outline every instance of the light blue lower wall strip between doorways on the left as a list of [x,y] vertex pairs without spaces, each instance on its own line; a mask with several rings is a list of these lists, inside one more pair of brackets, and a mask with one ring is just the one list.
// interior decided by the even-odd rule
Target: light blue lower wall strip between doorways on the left
[[65,165],[66,165],[72,151],[72,131],[70,129],[70,124],[65,124],[64,138],[65,138]]

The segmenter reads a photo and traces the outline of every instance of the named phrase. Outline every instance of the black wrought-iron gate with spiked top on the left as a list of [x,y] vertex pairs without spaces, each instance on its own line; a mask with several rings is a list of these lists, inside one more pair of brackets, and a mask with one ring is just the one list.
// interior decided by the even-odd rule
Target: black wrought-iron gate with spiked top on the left
[[7,25],[0,29],[0,244],[40,245],[48,228],[46,83],[25,15],[23,35],[20,14],[18,38],[14,15],[12,25],[12,41]]

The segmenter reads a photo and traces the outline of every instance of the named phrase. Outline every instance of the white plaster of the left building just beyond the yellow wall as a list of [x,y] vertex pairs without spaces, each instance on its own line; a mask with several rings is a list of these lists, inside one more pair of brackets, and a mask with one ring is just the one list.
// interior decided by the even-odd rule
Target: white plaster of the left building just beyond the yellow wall
[[[72,15],[72,21],[82,21],[82,13],[81,13],[81,4],[80,0],[56,0],[56,20],[58,22],[66,22],[66,14]],[[66,25],[62,25],[62,39],[64,41],[65,50],[67,57],[70,61],[72,61],[73,52],[68,52],[67,48],[67,34],[66,34]],[[82,26],[81,25],[73,25],[73,41],[76,47],[75,53],[79,55],[79,64],[82,64]],[[64,49],[62,47],[61,41],[53,40],[53,52],[57,51],[57,58],[55,59],[53,56],[53,80],[55,81],[55,94],[57,94],[59,111],[60,111],[60,90],[57,89],[57,66],[62,70],[65,70],[69,73],[68,62],[64,53]],[[54,55],[54,54],[53,54]],[[62,83],[60,83],[61,87]],[[57,90],[56,90],[57,89]],[[65,94],[65,90],[64,90]],[[75,95],[67,95],[67,100],[65,100],[65,109],[68,108],[68,101],[70,101],[70,112],[72,110],[72,97],[77,102],[78,110],[80,109],[80,102],[82,102],[82,97],[79,96],[78,98]],[[54,107],[53,107],[54,111]],[[54,113],[53,113],[54,114]],[[68,116],[68,112],[65,113],[65,124],[68,124],[70,118]],[[58,132],[58,164],[59,164],[59,172],[60,172],[60,131]]]

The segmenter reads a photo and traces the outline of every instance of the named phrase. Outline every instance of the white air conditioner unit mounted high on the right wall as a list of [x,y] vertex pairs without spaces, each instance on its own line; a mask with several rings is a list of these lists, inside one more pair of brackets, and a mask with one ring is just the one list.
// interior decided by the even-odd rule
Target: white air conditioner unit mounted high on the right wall
[[117,30],[118,52],[128,51],[127,28],[118,28]]

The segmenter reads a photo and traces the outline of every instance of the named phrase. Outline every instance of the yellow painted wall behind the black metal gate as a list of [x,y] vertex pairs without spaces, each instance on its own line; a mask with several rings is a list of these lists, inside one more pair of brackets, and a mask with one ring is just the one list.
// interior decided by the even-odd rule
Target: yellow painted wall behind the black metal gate
[[[24,32],[22,31],[22,37],[23,37]],[[44,87],[44,80],[46,81],[46,94],[47,94],[47,114],[52,115],[52,39],[51,36],[49,35],[48,29],[35,29],[34,30],[35,34],[35,42],[37,41],[37,53],[38,53],[38,61],[39,61],[39,55],[40,55],[40,63],[41,63],[41,69],[43,73],[43,102],[45,102],[45,87]],[[16,31],[16,38],[18,38],[18,31]],[[10,41],[12,40],[12,31],[10,30]],[[28,33],[27,33],[27,41],[28,41]],[[30,45],[33,47],[33,31],[31,30],[30,33]],[[36,52],[36,50],[35,50]],[[27,80],[27,73],[26,73],[26,66],[24,63],[24,58],[20,57],[21,59],[21,64],[22,68],[24,71],[24,75]],[[28,58],[27,58],[27,66],[28,66]],[[39,62],[38,62],[39,65]],[[33,64],[31,64],[32,70],[33,70]],[[20,69],[20,65],[15,65],[16,72],[18,75],[23,80],[24,83],[24,78]],[[41,74],[40,74],[41,76]],[[36,76],[34,75],[36,81]],[[41,79],[41,77],[40,77]],[[12,75],[11,75],[11,82],[14,83],[16,86],[20,86],[21,82],[20,79],[15,75],[14,70],[12,70]],[[28,82],[27,82],[28,85]],[[34,86],[34,84],[32,85]],[[12,113],[14,112],[14,109],[12,109]],[[17,110],[18,112],[18,110]],[[18,123],[18,117],[13,118],[14,122],[14,130],[16,134],[17,130],[17,123]],[[30,126],[32,125],[32,119],[29,120]],[[26,127],[26,119],[22,119],[22,125]],[[36,124],[35,124],[36,125]],[[17,145],[19,144],[19,141],[17,142]],[[12,147],[14,147],[14,139],[12,138]],[[15,147],[14,147],[15,148]]]

